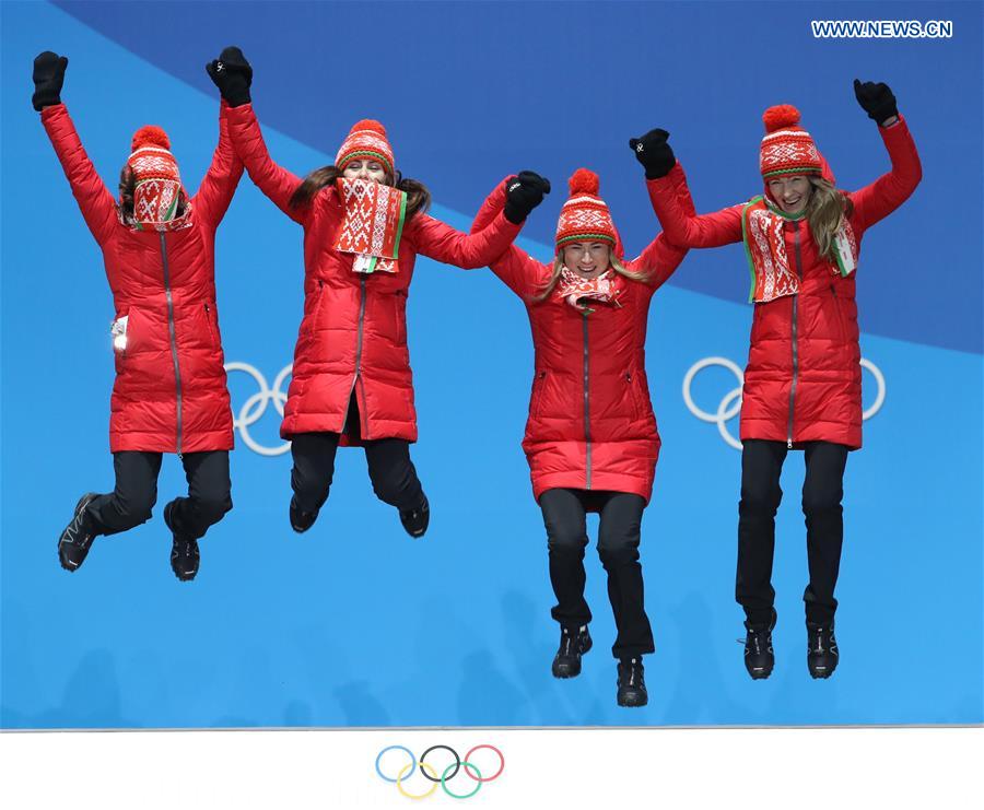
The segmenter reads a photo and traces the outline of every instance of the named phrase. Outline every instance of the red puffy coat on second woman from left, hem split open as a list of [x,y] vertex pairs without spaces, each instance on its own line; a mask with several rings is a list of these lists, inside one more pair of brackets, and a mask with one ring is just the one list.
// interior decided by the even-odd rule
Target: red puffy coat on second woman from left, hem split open
[[[326,186],[307,204],[290,199],[302,180],[270,160],[253,105],[229,110],[230,134],[254,183],[304,227],[304,318],[280,434],[343,433],[354,392],[362,439],[417,441],[407,349],[407,295],[417,254],[458,267],[488,265],[519,233],[501,214],[472,236],[417,213],[403,226],[396,273],[356,273],[335,249],[344,213]],[[356,444],[342,435],[342,444]]]

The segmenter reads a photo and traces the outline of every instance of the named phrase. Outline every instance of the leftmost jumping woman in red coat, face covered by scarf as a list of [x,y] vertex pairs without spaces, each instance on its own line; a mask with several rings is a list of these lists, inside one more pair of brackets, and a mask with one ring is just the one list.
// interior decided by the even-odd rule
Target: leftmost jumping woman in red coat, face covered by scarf
[[232,413],[215,308],[215,230],[243,175],[229,141],[225,105],[212,165],[189,197],[167,136],[143,127],[120,173],[119,202],[103,185],[61,103],[66,57],[34,60],[34,108],[85,224],[103,251],[116,319],[109,449],[112,493],[82,496],[58,541],[62,567],[74,571],[93,540],[145,523],[157,498],[162,456],[176,453],[188,497],[164,507],[178,579],[198,573],[198,539],[232,508],[229,451]]

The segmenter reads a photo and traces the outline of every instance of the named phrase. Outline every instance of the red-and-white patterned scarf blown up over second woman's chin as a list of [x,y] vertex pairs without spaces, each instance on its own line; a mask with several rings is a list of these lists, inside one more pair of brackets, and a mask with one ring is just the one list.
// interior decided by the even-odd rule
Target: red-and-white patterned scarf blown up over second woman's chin
[[339,178],[338,196],[345,215],[335,249],[355,254],[352,270],[356,273],[397,272],[407,216],[406,192],[382,183]]

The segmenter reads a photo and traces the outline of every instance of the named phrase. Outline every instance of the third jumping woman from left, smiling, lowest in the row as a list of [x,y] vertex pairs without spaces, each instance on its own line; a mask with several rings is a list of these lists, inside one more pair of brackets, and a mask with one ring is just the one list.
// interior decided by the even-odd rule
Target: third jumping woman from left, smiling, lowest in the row
[[[502,184],[472,230],[485,226],[506,204],[508,188],[524,179]],[[526,304],[536,349],[523,449],[547,529],[558,602],[551,615],[561,625],[553,674],[577,676],[582,654],[591,648],[591,612],[584,599],[585,518],[597,512],[598,554],[618,627],[612,645],[619,660],[617,700],[620,706],[644,706],[642,656],[654,647],[639,543],[660,444],[646,383],[646,321],[653,293],[687,251],[660,235],[637,259],[624,261],[598,186],[598,176],[586,168],[571,177],[552,262],[511,246],[492,270]],[[680,204],[692,211],[682,181],[680,189]]]

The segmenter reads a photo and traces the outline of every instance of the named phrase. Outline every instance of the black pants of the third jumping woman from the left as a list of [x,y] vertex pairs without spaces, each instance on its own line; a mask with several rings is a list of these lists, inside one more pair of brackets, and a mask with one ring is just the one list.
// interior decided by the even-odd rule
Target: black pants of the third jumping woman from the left
[[557,606],[550,614],[561,625],[575,630],[591,620],[584,599],[584,550],[587,547],[587,512],[598,512],[598,556],[608,573],[608,599],[614,613],[618,637],[611,651],[616,658],[652,653],[653,630],[643,606],[642,565],[639,541],[646,502],[624,492],[547,490],[540,495],[550,583]]

